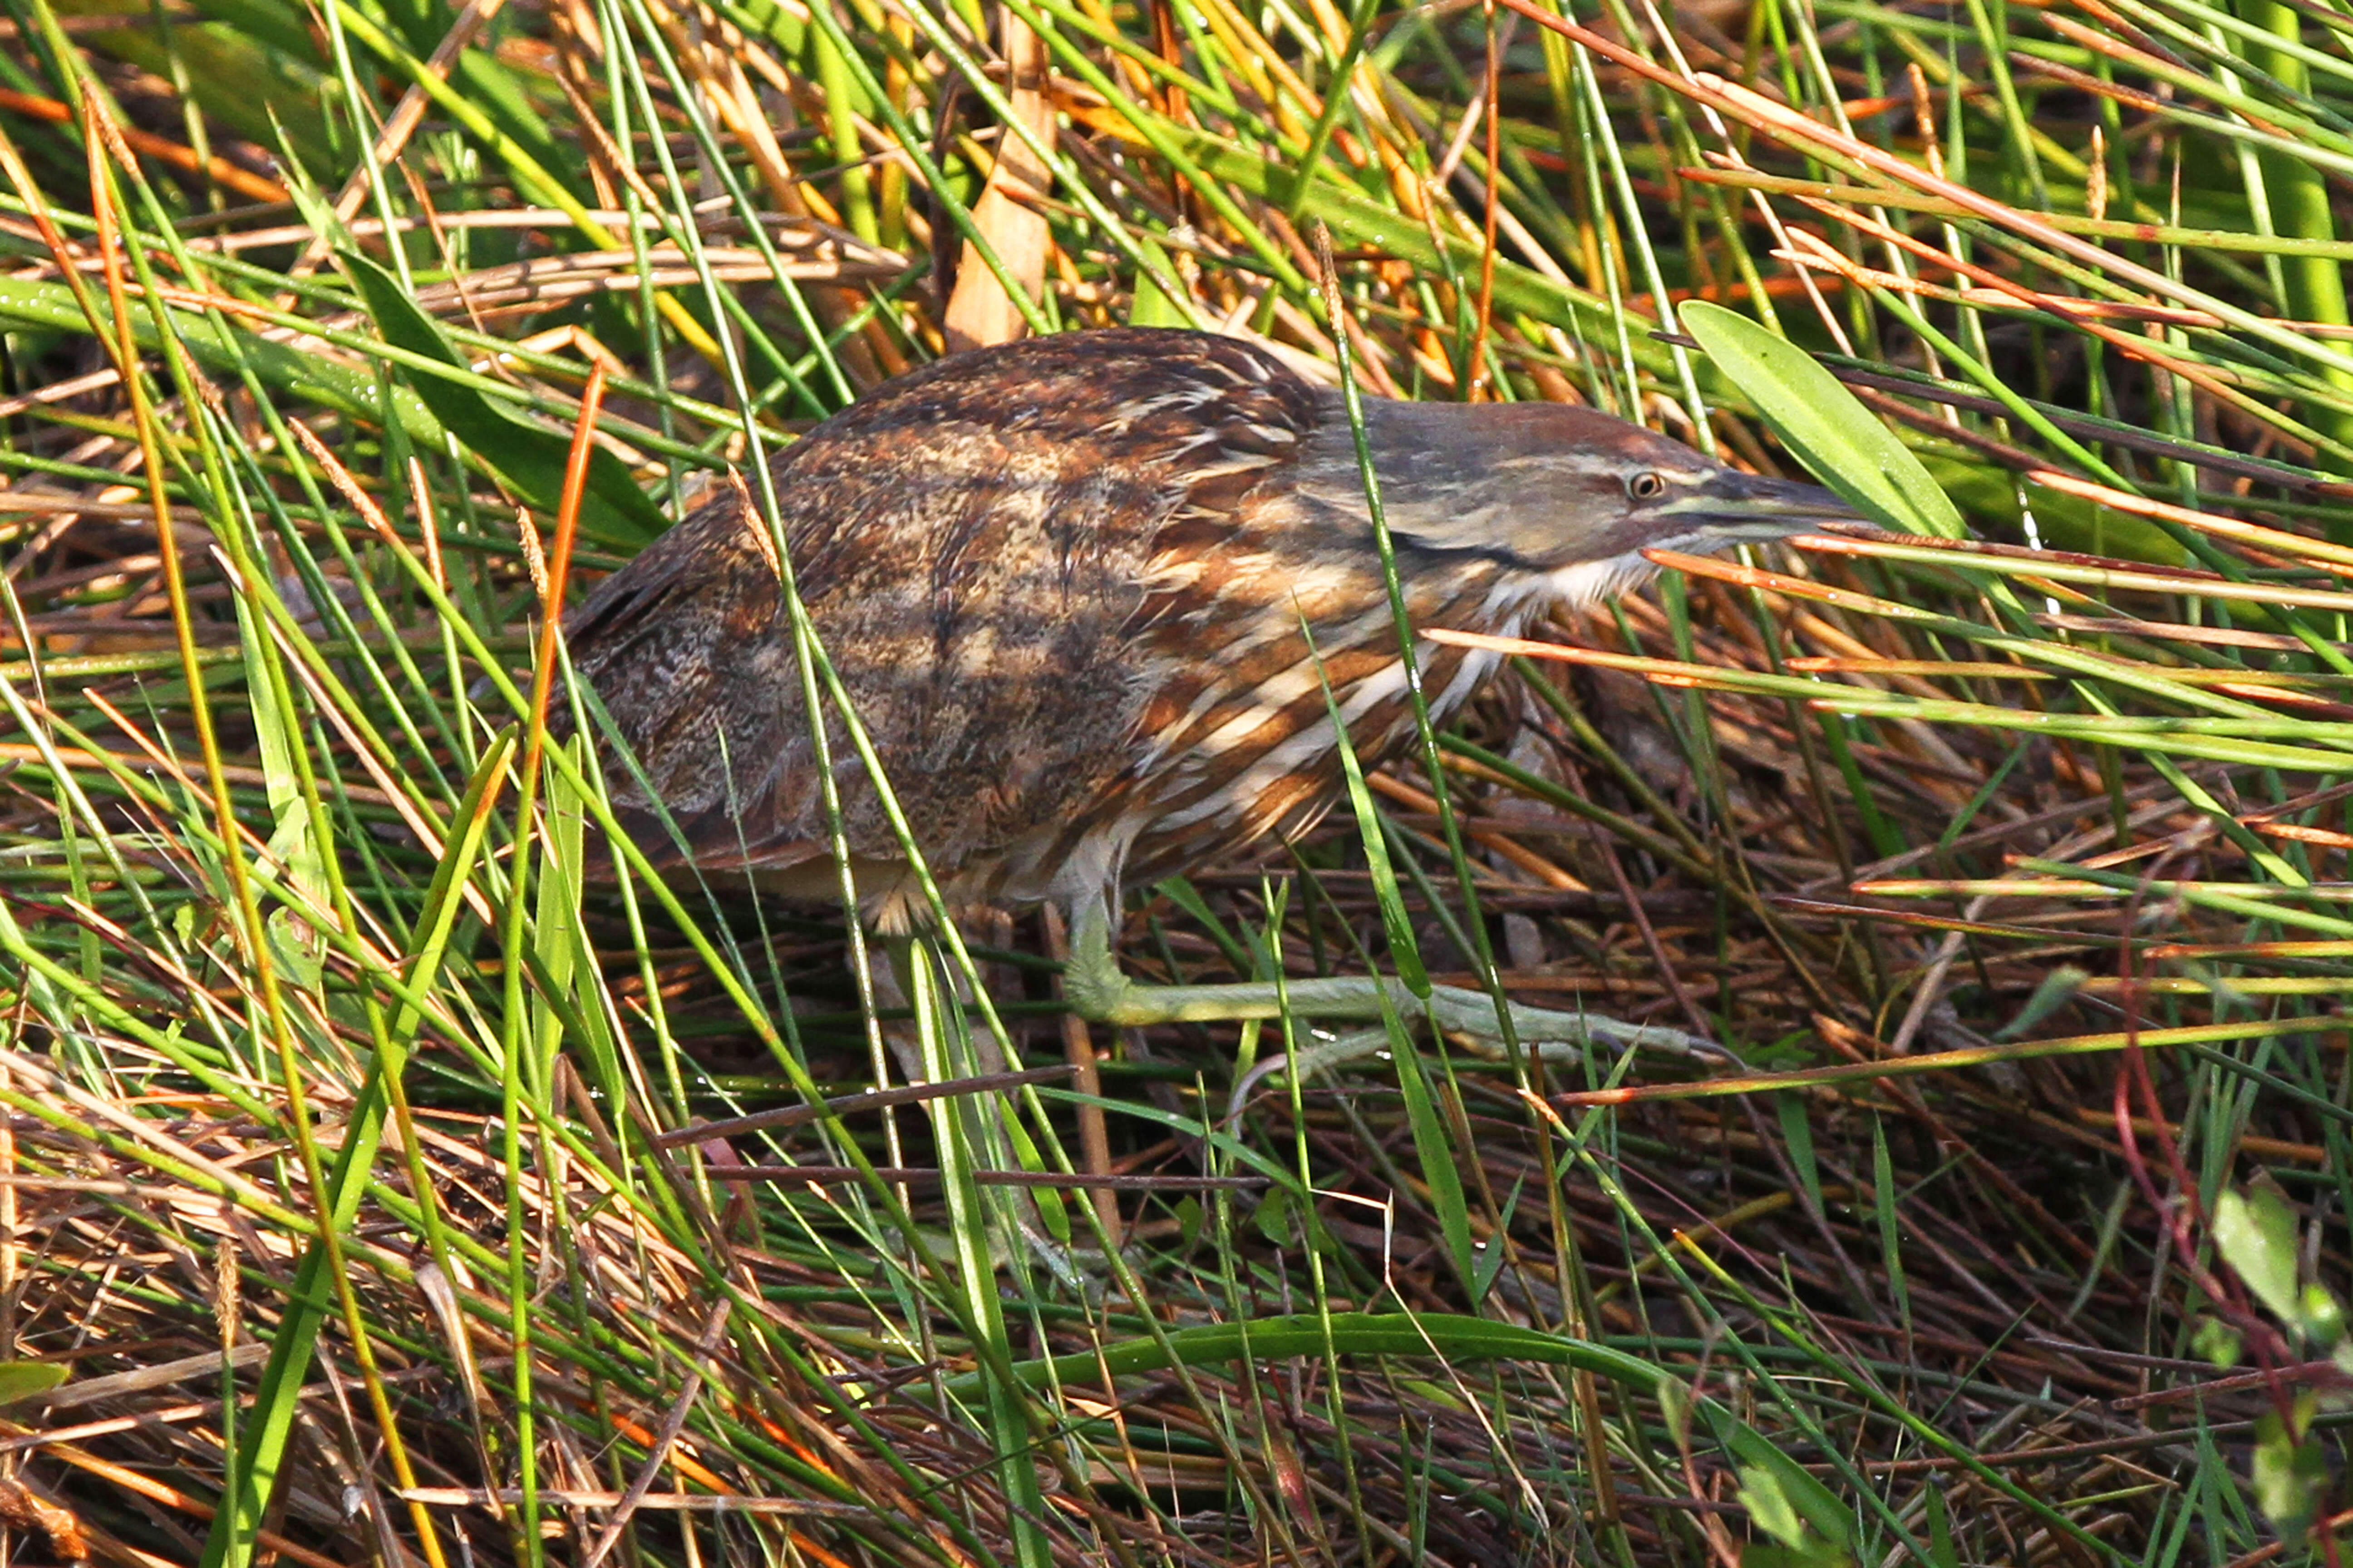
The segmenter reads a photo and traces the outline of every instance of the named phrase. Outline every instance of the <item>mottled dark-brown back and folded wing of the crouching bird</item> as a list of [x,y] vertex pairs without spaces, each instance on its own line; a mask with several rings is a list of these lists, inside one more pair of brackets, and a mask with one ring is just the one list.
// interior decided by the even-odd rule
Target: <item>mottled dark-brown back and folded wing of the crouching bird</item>
[[[1165,686],[1136,632],[1167,531],[1224,527],[1315,421],[1315,390],[1245,343],[1089,331],[941,360],[776,456],[800,597],[951,896],[1059,891],[1026,886],[1068,875],[1035,860],[1118,813]],[[678,825],[682,846],[607,769],[656,863],[833,886],[776,562],[741,487],[600,583],[567,639]],[[838,719],[828,738],[861,893],[889,917],[911,893],[896,835]]]

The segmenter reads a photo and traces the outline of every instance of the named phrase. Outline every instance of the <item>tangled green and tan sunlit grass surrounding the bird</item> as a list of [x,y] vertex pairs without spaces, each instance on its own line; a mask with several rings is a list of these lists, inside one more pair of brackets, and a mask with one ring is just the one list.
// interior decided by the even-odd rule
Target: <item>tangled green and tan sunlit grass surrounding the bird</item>
[[[2209,1215],[2268,1171],[2341,1291],[2334,12],[9,21],[0,1363],[73,1368],[0,1410],[28,1552],[2320,1552],[2344,1497],[2259,1429],[2320,1340]],[[1042,259],[974,216],[1007,139]],[[1369,395],[1880,496],[1906,534],[1553,628],[1344,825],[1122,933],[1139,976],[1426,969],[1737,1060],[1096,1030],[1094,1095],[1002,1077],[1071,1046],[1035,919],[878,1020],[824,912],[581,879],[565,562],[765,494],[946,346],[951,256],[1038,261],[1040,329],[1346,341]],[[856,1098],[885,1030],[972,1086]],[[1315,1070],[1252,1077],[1282,1051]]]

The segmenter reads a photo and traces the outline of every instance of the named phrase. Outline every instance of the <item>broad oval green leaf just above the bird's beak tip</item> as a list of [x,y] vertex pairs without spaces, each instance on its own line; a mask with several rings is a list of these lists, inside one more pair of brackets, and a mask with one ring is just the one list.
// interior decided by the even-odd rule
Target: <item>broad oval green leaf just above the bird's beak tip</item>
[[1927,468],[1809,353],[1746,315],[1687,301],[1682,329],[1817,480],[1899,534],[1967,538],[1960,510]]

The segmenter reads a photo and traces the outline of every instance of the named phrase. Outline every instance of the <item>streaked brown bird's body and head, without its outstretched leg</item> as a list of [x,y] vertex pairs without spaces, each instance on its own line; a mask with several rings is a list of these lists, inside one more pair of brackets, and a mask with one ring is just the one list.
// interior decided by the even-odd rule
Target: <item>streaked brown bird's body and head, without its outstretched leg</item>
[[[840,898],[788,562],[946,905],[1052,903],[1108,945],[1122,884],[1306,832],[1341,797],[1341,731],[1367,769],[1417,743],[1358,423],[1414,628],[1513,637],[1635,588],[1645,550],[1857,520],[1588,407],[1367,397],[1351,421],[1209,331],[955,353],[784,447],[776,531],[720,484],[565,618],[631,757],[607,766],[624,832],[666,875]],[[1412,656],[1438,724],[1499,665]],[[859,914],[920,931],[929,896],[838,712],[826,752]]]

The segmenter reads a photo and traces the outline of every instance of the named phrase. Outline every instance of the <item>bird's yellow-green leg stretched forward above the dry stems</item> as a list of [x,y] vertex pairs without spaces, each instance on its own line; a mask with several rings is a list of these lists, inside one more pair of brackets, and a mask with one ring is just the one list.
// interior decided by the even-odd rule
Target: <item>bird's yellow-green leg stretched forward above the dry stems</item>
[[[1428,1018],[1449,1037],[1466,1037],[1482,1056],[1499,1056],[1504,1025],[1494,997],[1433,985],[1428,1001],[1405,980],[1339,978],[1287,980],[1280,990],[1268,980],[1238,985],[1136,985],[1120,973],[1111,952],[1111,914],[1101,900],[1085,900],[1071,912],[1071,961],[1061,976],[1064,997],[1080,1018],[1118,1027],[1155,1023],[1233,1023],[1242,1018],[1318,1018],[1334,1023],[1381,1023],[1384,997],[1405,1023]],[[1600,1013],[1562,1013],[1555,1009],[1506,1004],[1513,1034],[1529,1046],[1588,1046],[1619,1051],[1673,1051],[1722,1058],[1722,1046],[1682,1030],[1619,1023]],[[1381,1048],[1374,1032],[1367,1051]]]

